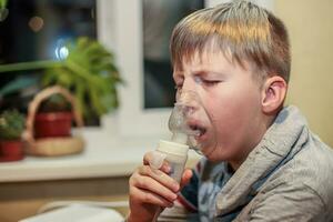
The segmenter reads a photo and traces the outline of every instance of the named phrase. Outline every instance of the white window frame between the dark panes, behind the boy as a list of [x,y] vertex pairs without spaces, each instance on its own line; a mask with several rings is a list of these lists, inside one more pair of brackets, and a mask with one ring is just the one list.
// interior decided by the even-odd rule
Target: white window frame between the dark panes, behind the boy
[[[120,88],[115,117],[120,135],[168,133],[170,108],[143,109],[143,53],[141,0],[98,0],[98,38],[115,56],[125,85]],[[228,0],[206,0],[208,7]],[[274,0],[254,0],[273,10]],[[107,121],[105,124],[114,123]],[[113,125],[114,127],[114,125]],[[107,129],[110,127],[107,125]]]

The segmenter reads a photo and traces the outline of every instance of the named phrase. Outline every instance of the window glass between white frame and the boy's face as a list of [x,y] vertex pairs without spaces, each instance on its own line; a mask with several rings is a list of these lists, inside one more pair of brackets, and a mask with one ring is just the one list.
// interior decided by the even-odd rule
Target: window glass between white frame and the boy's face
[[183,17],[203,7],[203,0],[142,0],[145,109],[173,107],[170,36]]

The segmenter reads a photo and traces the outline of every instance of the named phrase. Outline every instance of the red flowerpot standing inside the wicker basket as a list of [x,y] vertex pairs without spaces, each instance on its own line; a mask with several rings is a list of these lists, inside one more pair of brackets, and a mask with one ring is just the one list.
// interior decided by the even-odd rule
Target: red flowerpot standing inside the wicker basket
[[71,112],[37,113],[34,119],[36,138],[70,137],[72,127]]

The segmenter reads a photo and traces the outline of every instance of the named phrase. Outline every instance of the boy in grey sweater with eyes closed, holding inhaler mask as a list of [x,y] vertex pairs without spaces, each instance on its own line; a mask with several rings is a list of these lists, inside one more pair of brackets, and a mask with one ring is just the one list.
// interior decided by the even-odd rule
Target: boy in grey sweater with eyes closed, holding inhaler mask
[[[168,163],[130,179],[128,221],[333,221],[333,152],[294,107],[286,30],[248,1],[184,18],[171,38],[178,98],[200,97],[211,123],[196,137],[204,158],[181,184]],[[172,206],[172,208],[171,208]]]

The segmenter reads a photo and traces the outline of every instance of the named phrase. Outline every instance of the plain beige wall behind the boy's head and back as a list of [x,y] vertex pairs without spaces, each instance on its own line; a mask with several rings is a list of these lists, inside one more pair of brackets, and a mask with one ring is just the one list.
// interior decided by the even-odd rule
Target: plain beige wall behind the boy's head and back
[[296,104],[313,132],[333,147],[333,1],[275,0],[292,46],[287,103]]

